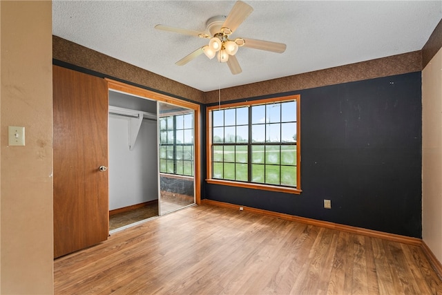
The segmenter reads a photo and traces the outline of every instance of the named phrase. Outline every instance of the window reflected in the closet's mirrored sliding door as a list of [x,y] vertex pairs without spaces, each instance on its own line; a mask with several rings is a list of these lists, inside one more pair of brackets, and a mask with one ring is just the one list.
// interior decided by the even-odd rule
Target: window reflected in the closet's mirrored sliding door
[[193,176],[193,113],[160,117],[160,172]]

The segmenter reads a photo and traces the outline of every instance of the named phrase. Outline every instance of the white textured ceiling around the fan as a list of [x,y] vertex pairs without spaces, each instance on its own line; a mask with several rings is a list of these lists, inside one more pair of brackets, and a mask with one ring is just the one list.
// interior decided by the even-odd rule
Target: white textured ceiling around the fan
[[442,1],[247,1],[251,15],[233,33],[287,44],[285,53],[240,48],[242,73],[200,55],[207,39],[156,30],[205,30],[235,1],[52,1],[53,35],[201,91],[307,73],[421,50],[442,18]]

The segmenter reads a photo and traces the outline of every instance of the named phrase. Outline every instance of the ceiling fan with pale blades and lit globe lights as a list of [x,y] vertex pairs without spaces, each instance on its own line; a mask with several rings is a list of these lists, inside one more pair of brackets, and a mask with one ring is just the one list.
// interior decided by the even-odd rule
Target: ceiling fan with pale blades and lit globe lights
[[184,35],[210,39],[208,45],[198,48],[197,50],[193,51],[193,53],[190,53],[177,61],[175,63],[177,66],[184,66],[184,64],[187,64],[189,61],[195,59],[195,57],[198,57],[202,53],[204,53],[206,57],[209,57],[209,59],[213,59],[213,57],[215,57],[215,55],[218,53],[218,61],[226,62],[231,73],[236,75],[242,72],[238,59],[236,59],[235,56],[239,47],[244,46],[247,48],[267,50],[273,53],[283,53],[287,47],[285,44],[272,41],[241,37],[229,39],[231,34],[235,32],[238,26],[240,26],[240,24],[247,19],[247,17],[249,17],[252,11],[253,8],[249,6],[249,4],[242,1],[237,1],[227,17],[216,16],[207,20],[207,32],[173,28],[164,25],[156,25],[155,28],[158,30],[166,30],[169,32],[177,32]]

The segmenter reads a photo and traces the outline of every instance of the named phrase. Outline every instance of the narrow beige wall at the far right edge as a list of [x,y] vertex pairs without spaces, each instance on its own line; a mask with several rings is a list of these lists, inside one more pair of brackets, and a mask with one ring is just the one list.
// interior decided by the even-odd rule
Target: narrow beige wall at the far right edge
[[422,237],[442,263],[442,49],[422,71]]

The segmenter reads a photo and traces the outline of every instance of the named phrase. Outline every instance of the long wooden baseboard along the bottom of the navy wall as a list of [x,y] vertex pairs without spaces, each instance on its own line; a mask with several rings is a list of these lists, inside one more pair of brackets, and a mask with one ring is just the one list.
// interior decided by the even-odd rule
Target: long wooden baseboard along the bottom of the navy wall
[[230,203],[226,203],[226,202],[218,202],[218,201],[208,200],[208,199],[201,200],[201,204],[209,204],[209,205],[229,208],[229,209],[233,209],[233,210],[238,210],[239,207],[243,207],[244,211],[248,211],[251,213],[257,213],[257,214],[261,214],[261,215],[265,215],[265,216],[281,218],[284,220],[302,222],[307,225],[316,225],[318,227],[325,227],[327,229],[336,229],[338,231],[347,231],[352,234],[360,234],[360,235],[369,236],[372,238],[381,238],[384,240],[392,240],[394,242],[402,242],[403,244],[407,244],[407,245],[421,246],[421,244],[422,244],[422,240],[420,238],[411,238],[411,237],[400,236],[400,235],[396,235],[396,234],[388,234],[388,233],[384,233],[382,231],[374,231],[372,229],[363,229],[361,227],[352,227],[349,225],[339,225],[338,223],[334,223],[334,222],[315,220],[315,219],[311,219],[311,218],[294,216],[294,215],[289,215],[289,214],[285,214],[285,213],[278,213],[278,212],[273,212],[273,211],[268,211],[268,210],[263,210],[263,209],[256,209],[256,208],[252,208],[252,207],[244,207],[244,206],[241,206],[238,204],[230,204]]

